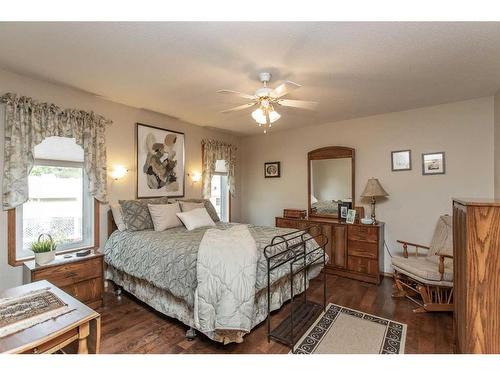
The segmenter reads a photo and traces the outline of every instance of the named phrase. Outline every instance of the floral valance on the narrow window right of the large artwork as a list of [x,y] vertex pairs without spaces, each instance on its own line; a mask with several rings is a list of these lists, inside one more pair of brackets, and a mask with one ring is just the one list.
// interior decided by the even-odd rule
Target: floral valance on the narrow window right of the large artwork
[[215,173],[217,160],[226,162],[227,184],[231,196],[235,196],[234,167],[236,165],[236,146],[214,139],[204,139],[203,145],[203,198],[210,198],[212,191],[212,176]]

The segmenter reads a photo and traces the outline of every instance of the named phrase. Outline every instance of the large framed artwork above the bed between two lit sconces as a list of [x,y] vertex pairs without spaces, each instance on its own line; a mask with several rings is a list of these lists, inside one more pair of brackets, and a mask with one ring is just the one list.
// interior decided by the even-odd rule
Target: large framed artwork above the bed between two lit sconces
[[184,196],[184,133],[136,124],[137,198]]

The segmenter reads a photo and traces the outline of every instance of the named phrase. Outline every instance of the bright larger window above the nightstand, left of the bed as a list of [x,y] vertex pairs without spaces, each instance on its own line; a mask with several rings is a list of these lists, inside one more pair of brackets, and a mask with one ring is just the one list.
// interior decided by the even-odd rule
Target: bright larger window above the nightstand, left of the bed
[[15,210],[16,260],[33,256],[31,243],[42,233],[59,252],[94,245],[94,203],[83,149],[73,139],[51,137],[35,147],[28,187],[29,200]]

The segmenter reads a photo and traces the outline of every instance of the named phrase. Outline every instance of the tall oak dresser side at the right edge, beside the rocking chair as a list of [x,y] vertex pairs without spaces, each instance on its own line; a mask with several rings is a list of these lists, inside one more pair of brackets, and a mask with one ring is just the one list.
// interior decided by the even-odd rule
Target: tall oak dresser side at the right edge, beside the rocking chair
[[453,200],[458,353],[500,353],[500,200]]

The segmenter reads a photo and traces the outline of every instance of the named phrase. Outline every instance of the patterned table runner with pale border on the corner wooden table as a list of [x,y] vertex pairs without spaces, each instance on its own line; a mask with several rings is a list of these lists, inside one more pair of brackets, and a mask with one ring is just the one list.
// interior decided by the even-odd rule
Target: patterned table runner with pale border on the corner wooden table
[[67,314],[70,309],[49,288],[0,299],[0,337]]

